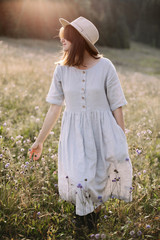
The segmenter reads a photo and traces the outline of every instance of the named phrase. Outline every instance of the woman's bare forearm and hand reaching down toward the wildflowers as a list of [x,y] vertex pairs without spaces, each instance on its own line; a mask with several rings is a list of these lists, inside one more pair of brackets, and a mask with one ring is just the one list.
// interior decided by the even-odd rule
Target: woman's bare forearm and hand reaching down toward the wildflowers
[[35,143],[32,145],[31,147],[31,151],[29,153],[29,157],[31,158],[32,155],[34,155],[33,160],[38,160],[41,156],[42,153],[42,149],[43,149],[43,143],[45,141],[45,139],[47,138],[47,136],[49,135],[51,129],[54,127],[60,113],[62,110],[62,106],[61,105],[55,105],[55,104],[51,104],[42,129],[35,141]]

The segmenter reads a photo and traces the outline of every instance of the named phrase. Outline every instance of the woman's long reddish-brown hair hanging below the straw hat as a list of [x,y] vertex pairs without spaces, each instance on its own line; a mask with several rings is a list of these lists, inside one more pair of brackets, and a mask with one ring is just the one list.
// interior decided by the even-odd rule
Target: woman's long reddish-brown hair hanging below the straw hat
[[[64,51],[61,59],[63,65],[80,66],[83,65],[85,50],[95,59],[99,59],[100,55],[90,48],[81,34],[71,25],[61,27],[59,30],[59,38],[66,39],[71,42],[69,51]],[[83,65],[84,66],[84,65]]]

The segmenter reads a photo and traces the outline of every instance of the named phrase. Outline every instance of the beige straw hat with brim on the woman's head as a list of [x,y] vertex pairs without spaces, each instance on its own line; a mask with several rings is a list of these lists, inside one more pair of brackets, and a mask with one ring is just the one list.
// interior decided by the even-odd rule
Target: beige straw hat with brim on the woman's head
[[84,17],[79,17],[76,18],[72,22],[68,22],[64,18],[59,19],[60,23],[62,24],[63,27],[67,25],[71,25],[74,27],[81,35],[82,37],[86,40],[88,45],[98,53],[97,48],[94,46],[94,44],[98,41],[99,39],[99,32],[95,25],[89,21],[88,19]]

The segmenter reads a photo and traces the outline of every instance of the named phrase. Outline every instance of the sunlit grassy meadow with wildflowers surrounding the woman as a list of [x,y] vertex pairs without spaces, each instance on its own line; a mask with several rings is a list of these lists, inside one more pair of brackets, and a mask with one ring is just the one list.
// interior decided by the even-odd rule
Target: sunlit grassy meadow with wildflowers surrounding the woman
[[[133,201],[110,199],[98,231],[78,239],[160,239],[160,50],[99,48],[115,64],[128,105],[126,135]],[[27,152],[49,107],[45,102],[60,45],[0,38],[0,239],[74,239],[74,208],[59,199],[57,150],[61,117],[39,161]]]

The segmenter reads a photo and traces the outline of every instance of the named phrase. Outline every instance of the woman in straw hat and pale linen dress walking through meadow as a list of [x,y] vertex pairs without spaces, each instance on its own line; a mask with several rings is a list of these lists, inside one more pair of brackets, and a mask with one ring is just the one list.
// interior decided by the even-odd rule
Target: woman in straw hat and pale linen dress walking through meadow
[[[58,149],[58,187],[77,216],[97,216],[110,197],[132,201],[132,164],[124,133],[122,106],[127,102],[112,62],[95,42],[97,28],[84,17],[60,19],[64,55],[47,95],[51,104],[30,158],[38,160],[62,106]],[[65,101],[65,103],[64,103]]]

